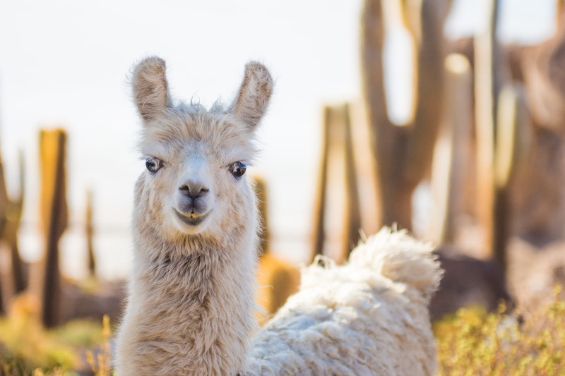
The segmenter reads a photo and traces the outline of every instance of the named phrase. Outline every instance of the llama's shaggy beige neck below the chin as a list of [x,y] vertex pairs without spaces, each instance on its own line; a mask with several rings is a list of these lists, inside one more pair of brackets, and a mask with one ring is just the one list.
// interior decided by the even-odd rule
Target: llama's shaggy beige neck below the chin
[[231,241],[224,243],[198,236],[170,243],[137,234],[122,325],[126,353],[133,351],[135,359],[119,363],[134,365],[131,375],[242,370],[256,327],[255,231],[227,236]]

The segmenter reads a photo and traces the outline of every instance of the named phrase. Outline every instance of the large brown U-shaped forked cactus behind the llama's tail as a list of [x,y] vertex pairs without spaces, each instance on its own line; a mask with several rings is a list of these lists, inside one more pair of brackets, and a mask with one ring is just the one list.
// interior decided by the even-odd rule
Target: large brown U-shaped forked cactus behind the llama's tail
[[[362,13],[362,83],[372,132],[381,203],[381,224],[412,227],[412,193],[429,173],[444,89],[444,21],[451,1],[399,1],[415,43],[415,111],[395,126],[386,110],[383,50],[394,13],[381,0],[365,0]],[[393,3],[387,3],[391,5]]]

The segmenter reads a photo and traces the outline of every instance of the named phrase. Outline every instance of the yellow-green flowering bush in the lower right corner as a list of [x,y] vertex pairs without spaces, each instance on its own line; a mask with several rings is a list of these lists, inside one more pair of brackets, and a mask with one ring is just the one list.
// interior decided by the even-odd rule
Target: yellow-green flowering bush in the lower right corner
[[565,375],[565,301],[533,314],[463,308],[434,324],[439,375]]

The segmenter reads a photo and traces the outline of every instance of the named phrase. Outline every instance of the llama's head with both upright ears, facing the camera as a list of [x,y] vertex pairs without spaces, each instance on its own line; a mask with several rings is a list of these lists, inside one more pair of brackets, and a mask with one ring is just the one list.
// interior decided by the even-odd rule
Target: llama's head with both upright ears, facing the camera
[[254,227],[255,198],[244,174],[273,88],[267,69],[248,63],[227,109],[173,104],[165,61],[157,57],[136,66],[132,84],[146,167],[136,184],[138,224],[168,238]]

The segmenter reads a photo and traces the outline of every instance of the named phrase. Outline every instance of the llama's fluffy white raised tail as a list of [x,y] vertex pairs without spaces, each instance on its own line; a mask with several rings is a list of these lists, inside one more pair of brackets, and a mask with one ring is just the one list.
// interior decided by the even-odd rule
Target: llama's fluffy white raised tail
[[392,281],[408,284],[429,301],[443,275],[433,250],[430,243],[417,241],[405,230],[383,227],[352,250],[349,262],[373,269]]

